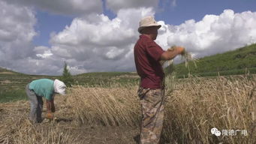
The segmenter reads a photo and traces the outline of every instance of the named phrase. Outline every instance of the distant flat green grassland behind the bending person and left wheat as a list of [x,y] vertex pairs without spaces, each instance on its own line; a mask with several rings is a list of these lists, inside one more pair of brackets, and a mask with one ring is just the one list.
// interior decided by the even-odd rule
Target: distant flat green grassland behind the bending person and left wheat
[[[14,71],[0,68],[0,103],[26,99],[25,87],[32,80],[48,78],[59,79],[59,76],[42,76],[20,74]],[[94,86],[110,86],[113,83],[127,84],[137,83],[139,77],[136,73],[103,72],[78,74],[73,76],[74,84]]]

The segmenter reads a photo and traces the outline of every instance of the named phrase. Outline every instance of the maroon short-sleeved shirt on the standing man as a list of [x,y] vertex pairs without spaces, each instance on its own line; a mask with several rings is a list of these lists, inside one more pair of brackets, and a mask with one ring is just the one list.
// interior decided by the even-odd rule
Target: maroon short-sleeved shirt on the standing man
[[134,60],[141,82],[140,86],[145,89],[161,89],[164,71],[159,63],[161,54],[164,52],[154,40],[145,35],[134,46]]

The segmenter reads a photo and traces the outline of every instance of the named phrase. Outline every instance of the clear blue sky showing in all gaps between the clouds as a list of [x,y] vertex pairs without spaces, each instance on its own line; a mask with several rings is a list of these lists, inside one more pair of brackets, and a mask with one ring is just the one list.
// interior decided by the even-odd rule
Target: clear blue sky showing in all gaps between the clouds
[[[103,0],[104,1],[104,0]],[[105,1],[104,1],[105,4]],[[110,19],[116,17],[116,14],[111,10],[104,8],[104,14]],[[219,15],[225,9],[234,10],[235,13],[243,11],[256,10],[256,1],[254,0],[176,0],[176,5],[173,1],[160,0],[155,13],[155,20],[164,20],[171,25],[180,25],[185,20],[202,20],[206,14]],[[65,26],[69,26],[75,18],[70,15],[62,15],[49,13],[47,11],[36,10],[38,23],[35,26],[36,31],[39,31],[33,43],[35,45],[50,46],[50,33],[62,31]]]

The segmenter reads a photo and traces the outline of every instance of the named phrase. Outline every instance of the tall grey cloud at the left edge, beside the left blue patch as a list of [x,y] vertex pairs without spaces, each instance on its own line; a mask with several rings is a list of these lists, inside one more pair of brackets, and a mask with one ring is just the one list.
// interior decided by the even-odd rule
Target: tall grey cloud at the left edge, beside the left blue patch
[[0,62],[26,58],[36,32],[35,15],[28,7],[14,7],[0,1]]

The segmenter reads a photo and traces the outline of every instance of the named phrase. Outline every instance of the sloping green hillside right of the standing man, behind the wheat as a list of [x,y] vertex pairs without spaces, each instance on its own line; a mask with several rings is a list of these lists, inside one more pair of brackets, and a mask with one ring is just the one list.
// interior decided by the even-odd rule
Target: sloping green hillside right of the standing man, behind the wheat
[[[188,76],[184,63],[174,68],[178,76]],[[189,62],[189,70],[190,74],[197,76],[215,76],[218,72],[221,75],[245,74],[245,71],[256,74],[256,44],[200,58],[197,68]]]

